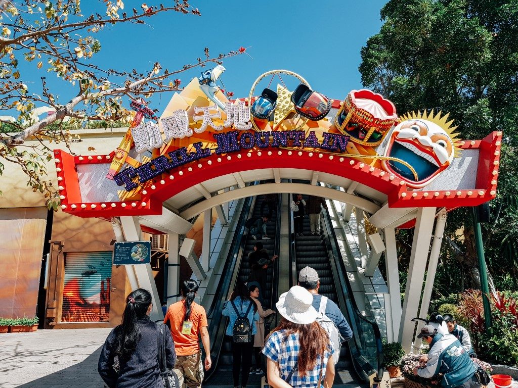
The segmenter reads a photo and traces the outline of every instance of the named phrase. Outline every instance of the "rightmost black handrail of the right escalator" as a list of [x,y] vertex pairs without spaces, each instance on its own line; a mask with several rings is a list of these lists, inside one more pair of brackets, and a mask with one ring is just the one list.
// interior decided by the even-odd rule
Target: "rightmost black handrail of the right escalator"
[[[382,346],[381,346],[382,342],[381,342],[380,329],[376,322],[371,321],[370,319],[368,319],[367,317],[362,315],[361,311],[358,309],[358,306],[354,299],[353,290],[352,290],[351,284],[349,282],[349,278],[347,278],[347,276],[344,276],[344,274],[347,273],[346,266],[342,260],[341,253],[339,253],[340,251],[337,246],[335,229],[333,228],[332,222],[330,222],[330,215],[326,208],[322,208],[322,215],[323,215],[323,217],[321,217],[322,231],[325,230],[327,233],[327,237],[328,237],[328,238],[324,238],[324,242],[326,243],[327,248],[330,249],[330,251],[333,253],[333,260],[329,260],[329,262],[330,262],[330,264],[337,266],[337,268],[336,268],[337,271],[333,271],[336,274],[336,276],[338,277],[338,279],[335,279],[335,282],[336,282],[336,280],[338,280],[339,281],[338,284],[345,286],[347,288],[347,293],[350,295],[350,297],[349,298],[347,297],[343,288],[337,288],[337,291],[339,291],[339,290],[342,291],[341,292],[342,295],[340,295],[341,298],[343,299],[343,301],[345,303],[348,303],[347,301],[349,301],[356,317],[358,319],[366,322],[370,326],[372,326],[372,331],[374,333],[375,340],[376,340],[376,358],[377,358],[378,365],[377,365],[377,370],[375,370],[375,367],[373,365],[371,365],[371,367],[372,367],[372,371],[376,372],[375,381],[379,382],[379,381],[381,381],[381,379],[383,377],[383,352],[382,352]],[[332,258],[329,258],[329,259],[332,259]],[[354,341],[354,344],[355,344],[356,348],[358,349],[359,346],[356,343],[356,340]],[[356,351],[357,351],[357,349],[356,349]],[[359,354],[359,352],[358,352],[358,354]]]

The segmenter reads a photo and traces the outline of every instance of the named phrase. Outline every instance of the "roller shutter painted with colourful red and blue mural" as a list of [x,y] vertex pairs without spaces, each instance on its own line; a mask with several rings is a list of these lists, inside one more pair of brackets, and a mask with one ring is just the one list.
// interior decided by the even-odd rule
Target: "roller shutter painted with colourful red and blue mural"
[[62,322],[108,322],[112,252],[67,252]]

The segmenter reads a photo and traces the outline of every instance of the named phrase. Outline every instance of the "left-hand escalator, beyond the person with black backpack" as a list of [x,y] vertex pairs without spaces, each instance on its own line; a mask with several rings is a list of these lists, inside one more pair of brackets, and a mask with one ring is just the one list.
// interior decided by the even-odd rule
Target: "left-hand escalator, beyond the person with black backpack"
[[[239,242],[239,249],[234,247],[231,249],[229,256],[235,255],[234,258],[229,257],[227,261],[234,261],[234,266],[227,268],[225,279],[222,281],[224,287],[219,292],[219,302],[217,306],[211,311],[211,322],[209,322],[209,333],[211,333],[211,357],[213,366],[211,370],[206,372],[204,386],[233,386],[232,381],[232,341],[226,337],[225,329],[228,324],[228,319],[221,315],[223,310],[223,302],[228,299],[232,293],[236,283],[246,282],[250,275],[250,263],[248,261],[248,253],[253,251],[254,244],[257,241],[263,243],[264,248],[267,249],[270,257],[277,255],[279,252],[279,205],[280,199],[277,201],[277,207],[272,209],[272,217],[270,222],[266,224],[266,232],[271,240],[254,240],[248,233],[248,229],[244,228],[244,221],[250,217],[260,216],[262,198],[255,197],[253,205],[250,208],[243,209],[241,219],[236,232],[235,240]],[[260,237],[260,236],[258,236]],[[240,241],[239,241],[240,239]],[[235,260],[233,260],[235,259]],[[277,295],[277,271],[278,261],[276,260],[268,268],[267,285],[263,290],[264,300],[263,306],[270,308],[272,305],[271,295]],[[239,267],[238,271],[233,271],[234,268]],[[234,272],[231,275],[231,272]],[[223,319],[222,319],[223,318]],[[261,377],[258,375],[250,375],[247,386],[260,386]]]

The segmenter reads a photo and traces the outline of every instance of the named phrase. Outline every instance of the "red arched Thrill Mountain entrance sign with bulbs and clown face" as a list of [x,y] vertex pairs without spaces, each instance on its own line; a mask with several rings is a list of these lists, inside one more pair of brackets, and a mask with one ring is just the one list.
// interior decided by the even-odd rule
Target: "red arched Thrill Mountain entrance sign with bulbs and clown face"
[[[160,215],[165,207],[191,219],[237,198],[304,192],[368,214],[382,209],[385,219],[393,212],[394,226],[407,227],[408,217],[400,214],[416,207],[451,210],[495,198],[500,131],[461,141],[440,112],[396,121],[393,104],[370,91],[353,91],[343,103],[305,91],[301,102],[290,102],[291,92],[280,85],[277,101],[268,93],[231,102],[219,90],[210,95],[195,79],[171,99],[160,126],[142,123],[142,108],[110,155],[56,150],[61,208],[110,218]],[[366,103],[369,98],[376,103]],[[214,99],[223,110],[211,105]],[[383,107],[389,107],[386,114],[378,112]],[[257,111],[268,118],[254,117]],[[320,114],[319,120],[312,114]],[[289,185],[290,179],[307,184]],[[271,183],[248,187],[256,181]]]

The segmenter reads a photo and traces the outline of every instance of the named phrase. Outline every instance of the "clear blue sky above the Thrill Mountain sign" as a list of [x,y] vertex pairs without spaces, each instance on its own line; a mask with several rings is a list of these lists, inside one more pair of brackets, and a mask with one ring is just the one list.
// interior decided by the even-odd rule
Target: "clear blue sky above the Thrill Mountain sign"
[[[172,0],[147,1],[148,6]],[[125,0],[125,11],[140,10],[142,1]],[[202,17],[164,12],[147,20],[148,24],[106,25],[97,34],[102,49],[92,63],[103,68],[145,72],[157,61],[174,70],[204,57],[243,46],[250,55],[224,61],[221,79],[235,97],[248,96],[254,80],[263,72],[286,69],[299,73],[313,89],[343,99],[351,89],[361,88],[358,66],[360,50],[381,27],[380,9],[384,0],[342,1],[213,1],[192,0]],[[105,6],[83,0],[83,13],[90,9],[104,13]],[[253,59],[252,59],[253,58]],[[32,66],[34,64],[26,64]],[[190,70],[177,78],[186,85],[201,69]],[[44,69],[22,72],[31,91],[39,87]],[[176,78],[176,77],[175,77]],[[60,102],[74,95],[68,83],[47,77],[49,86],[60,95]],[[34,83],[33,83],[34,82]],[[32,83],[32,85],[31,85]],[[150,108],[162,111],[171,93],[155,96]],[[127,101],[128,103],[128,101]]]

